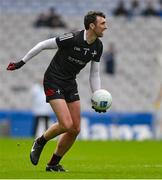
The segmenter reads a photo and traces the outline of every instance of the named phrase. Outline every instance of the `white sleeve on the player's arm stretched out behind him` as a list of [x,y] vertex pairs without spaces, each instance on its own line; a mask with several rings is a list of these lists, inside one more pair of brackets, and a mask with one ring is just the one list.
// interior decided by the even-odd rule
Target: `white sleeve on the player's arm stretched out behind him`
[[56,38],[51,38],[45,41],[42,41],[38,43],[36,46],[34,46],[23,58],[22,60],[26,63],[29,61],[32,57],[39,54],[44,49],[56,49],[57,43]]

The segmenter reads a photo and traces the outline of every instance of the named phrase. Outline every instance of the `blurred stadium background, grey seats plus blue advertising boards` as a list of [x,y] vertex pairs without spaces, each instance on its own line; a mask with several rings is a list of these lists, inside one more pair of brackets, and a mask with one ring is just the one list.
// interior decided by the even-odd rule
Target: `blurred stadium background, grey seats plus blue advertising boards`
[[[102,38],[104,51],[116,49],[116,72],[110,76],[101,60],[102,87],[111,92],[113,105],[106,114],[91,110],[89,66],[78,76],[82,105],[81,139],[155,139],[162,137],[160,109],[154,107],[161,85],[162,19],[160,17],[114,17],[118,0],[0,0],[0,135],[31,137],[33,99],[30,89],[42,79],[55,51],[43,51],[22,69],[7,72],[11,60],[19,60],[38,42],[70,30],[83,29],[89,10],[107,15],[108,30]],[[147,0],[140,0],[144,8]],[[159,8],[159,1],[153,0]],[[131,0],[124,0],[127,8]],[[55,7],[66,28],[35,28],[41,12]],[[161,62],[160,62],[161,60]],[[161,118],[161,119],[160,119]],[[51,120],[55,119],[51,115]]]

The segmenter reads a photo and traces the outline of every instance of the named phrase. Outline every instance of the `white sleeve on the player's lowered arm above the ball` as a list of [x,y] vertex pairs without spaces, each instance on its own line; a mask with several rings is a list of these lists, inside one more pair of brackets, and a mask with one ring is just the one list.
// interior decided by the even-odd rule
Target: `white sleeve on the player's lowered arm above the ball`
[[90,68],[90,76],[89,76],[89,83],[92,92],[101,89],[101,80],[100,80],[100,63],[91,61],[91,68]]

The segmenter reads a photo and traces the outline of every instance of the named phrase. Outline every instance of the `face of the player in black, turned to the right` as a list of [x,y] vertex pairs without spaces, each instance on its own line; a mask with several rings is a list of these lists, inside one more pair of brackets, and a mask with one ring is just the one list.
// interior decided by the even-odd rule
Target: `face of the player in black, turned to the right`
[[103,31],[107,29],[106,20],[101,16],[97,16],[95,27],[93,29],[97,37],[103,37]]

